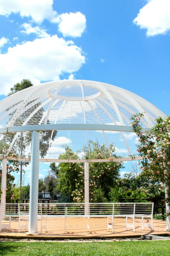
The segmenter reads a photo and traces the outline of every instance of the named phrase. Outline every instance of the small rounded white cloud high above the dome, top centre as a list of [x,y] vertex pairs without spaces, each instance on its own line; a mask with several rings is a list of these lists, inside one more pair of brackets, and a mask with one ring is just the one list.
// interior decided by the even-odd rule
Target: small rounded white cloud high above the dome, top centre
[[86,16],[81,12],[62,13],[58,16],[58,30],[64,37],[81,37],[86,29]]

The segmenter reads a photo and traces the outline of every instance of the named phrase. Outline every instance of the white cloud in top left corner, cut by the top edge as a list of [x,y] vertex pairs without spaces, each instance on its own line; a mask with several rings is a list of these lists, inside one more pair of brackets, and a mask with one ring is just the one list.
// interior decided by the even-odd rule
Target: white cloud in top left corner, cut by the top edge
[[9,16],[13,12],[21,17],[31,17],[36,23],[45,19],[55,22],[57,12],[52,4],[53,0],[0,0],[0,14]]

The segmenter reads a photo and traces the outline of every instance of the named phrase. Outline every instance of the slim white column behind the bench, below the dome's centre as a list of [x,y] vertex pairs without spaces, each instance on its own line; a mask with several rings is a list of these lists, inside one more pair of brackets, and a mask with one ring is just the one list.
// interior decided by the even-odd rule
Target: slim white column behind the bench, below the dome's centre
[[85,215],[89,215],[89,163],[84,163],[84,203]]

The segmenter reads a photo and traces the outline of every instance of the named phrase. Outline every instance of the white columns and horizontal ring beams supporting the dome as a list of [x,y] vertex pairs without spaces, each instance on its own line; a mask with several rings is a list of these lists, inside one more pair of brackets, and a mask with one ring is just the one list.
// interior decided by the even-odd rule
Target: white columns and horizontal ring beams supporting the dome
[[[132,161],[141,160],[142,157],[129,157],[129,158],[112,158],[108,159],[39,159],[39,133],[44,130],[102,130],[104,131],[125,131],[134,132],[132,126],[122,125],[101,125],[101,124],[50,124],[50,125],[27,125],[27,126],[12,126],[7,128],[0,128],[0,134],[9,132],[32,132],[31,136],[31,156],[32,158],[13,158],[10,156],[0,156],[2,159],[2,196],[1,202],[6,202],[6,180],[7,180],[7,160],[14,161],[30,161],[30,213],[29,213],[29,231],[27,235],[39,235],[37,232],[38,221],[38,175],[39,175],[39,162],[84,162],[84,194],[85,203],[89,203],[89,162],[119,162],[119,161]],[[142,128],[141,132],[145,133],[150,131],[150,128]],[[37,196],[35,196],[37,195]]]

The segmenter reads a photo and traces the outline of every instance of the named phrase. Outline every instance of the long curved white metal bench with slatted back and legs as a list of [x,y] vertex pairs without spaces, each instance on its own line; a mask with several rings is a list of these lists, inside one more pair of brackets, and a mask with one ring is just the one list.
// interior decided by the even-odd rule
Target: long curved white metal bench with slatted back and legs
[[[27,231],[29,218],[29,203],[1,204],[0,205],[0,231],[11,227],[11,217],[19,218],[19,230]],[[9,224],[2,224],[1,220],[9,217]],[[48,218],[64,218],[64,233],[67,232],[67,218],[87,218],[87,232],[90,233],[91,218],[107,218],[107,231],[114,232],[114,218],[126,218],[126,230],[132,228],[135,232],[135,218],[142,218],[142,230],[150,227],[153,231],[153,203],[38,203],[38,219],[41,221],[41,233],[47,231]],[[133,222],[129,223],[128,219]],[[145,223],[144,219],[150,218],[151,223]],[[109,220],[112,220],[109,223]],[[20,220],[26,223],[21,225]],[[44,223],[45,221],[45,223]]]

